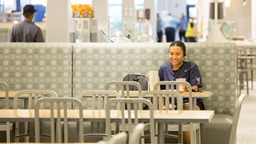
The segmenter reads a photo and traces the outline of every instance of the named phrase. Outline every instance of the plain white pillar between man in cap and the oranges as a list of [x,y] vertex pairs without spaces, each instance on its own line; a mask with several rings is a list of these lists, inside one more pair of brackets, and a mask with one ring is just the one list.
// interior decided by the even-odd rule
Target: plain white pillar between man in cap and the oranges
[[47,0],[46,42],[70,42],[70,0]]

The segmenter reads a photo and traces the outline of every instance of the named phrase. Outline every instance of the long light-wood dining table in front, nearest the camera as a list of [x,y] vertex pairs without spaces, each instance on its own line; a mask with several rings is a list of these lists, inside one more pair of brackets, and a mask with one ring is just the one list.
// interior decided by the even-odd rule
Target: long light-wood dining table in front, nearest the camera
[[[68,110],[70,121],[78,122],[78,110]],[[111,110],[112,121],[122,119],[120,110]],[[41,121],[49,121],[50,111],[39,110]],[[138,119],[149,122],[150,110],[138,110]],[[158,143],[164,143],[165,122],[210,122],[214,117],[214,110],[154,110],[154,122],[158,123]],[[105,110],[83,110],[84,122],[106,122]],[[33,109],[0,109],[0,122],[34,122]]]

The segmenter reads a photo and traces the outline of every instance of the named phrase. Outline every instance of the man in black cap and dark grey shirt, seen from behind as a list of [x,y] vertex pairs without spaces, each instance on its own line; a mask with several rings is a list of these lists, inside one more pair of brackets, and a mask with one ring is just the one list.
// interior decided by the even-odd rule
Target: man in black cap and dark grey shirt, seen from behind
[[42,30],[33,22],[36,11],[32,5],[23,7],[24,20],[14,24],[10,33],[10,42],[45,42]]

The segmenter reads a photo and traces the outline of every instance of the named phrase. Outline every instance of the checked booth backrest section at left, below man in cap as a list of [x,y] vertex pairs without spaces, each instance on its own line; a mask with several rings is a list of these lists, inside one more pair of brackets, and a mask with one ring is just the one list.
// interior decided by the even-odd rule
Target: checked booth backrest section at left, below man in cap
[[0,78],[10,90],[47,89],[71,96],[71,61],[71,43],[0,43]]

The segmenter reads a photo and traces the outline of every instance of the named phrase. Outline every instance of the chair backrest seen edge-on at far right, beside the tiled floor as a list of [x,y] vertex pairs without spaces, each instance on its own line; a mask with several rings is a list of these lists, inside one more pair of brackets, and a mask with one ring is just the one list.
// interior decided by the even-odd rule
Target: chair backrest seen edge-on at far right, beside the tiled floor
[[241,112],[241,107],[242,107],[242,102],[246,98],[246,94],[240,94],[237,102],[237,106],[234,111],[234,116],[233,116],[233,125],[231,127],[231,133],[230,133],[230,144],[236,143],[236,136],[237,136],[237,127],[238,127],[238,120],[239,120],[239,115]]

